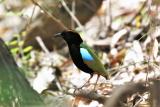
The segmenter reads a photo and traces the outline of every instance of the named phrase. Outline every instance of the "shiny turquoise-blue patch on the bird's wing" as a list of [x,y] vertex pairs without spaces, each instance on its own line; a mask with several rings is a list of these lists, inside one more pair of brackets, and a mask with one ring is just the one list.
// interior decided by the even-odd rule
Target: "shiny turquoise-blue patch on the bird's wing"
[[92,55],[88,52],[87,49],[80,48],[80,53],[81,53],[82,59],[84,61],[93,61],[94,60],[93,57],[92,57]]

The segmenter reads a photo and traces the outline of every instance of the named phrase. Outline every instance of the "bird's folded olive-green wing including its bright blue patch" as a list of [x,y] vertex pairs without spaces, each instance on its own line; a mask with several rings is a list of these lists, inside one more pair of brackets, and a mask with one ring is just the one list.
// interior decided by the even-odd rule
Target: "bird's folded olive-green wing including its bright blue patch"
[[82,59],[85,64],[88,65],[95,73],[100,74],[104,77],[108,76],[106,69],[104,68],[103,64],[101,63],[98,56],[94,53],[94,50],[87,46],[84,43],[80,45],[80,53]]

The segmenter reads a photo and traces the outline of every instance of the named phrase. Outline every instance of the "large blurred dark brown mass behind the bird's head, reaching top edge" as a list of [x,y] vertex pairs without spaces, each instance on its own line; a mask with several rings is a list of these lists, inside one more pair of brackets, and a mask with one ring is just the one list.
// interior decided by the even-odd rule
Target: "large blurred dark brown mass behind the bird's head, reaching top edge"
[[[36,2],[36,0],[32,0],[33,3],[35,3],[34,1]],[[95,14],[96,16],[99,16],[100,14],[98,13],[103,13],[103,10],[101,9],[103,0],[65,0],[65,3],[67,3],[66,5],[70,10],[74,7],[74,15],[82,25],[85,25],[93,16],[95,16]],[[42,48],[36,41],[38,35],[44,41],[48,50],[52,51],[53,45],[60,48],[63,45],[63,42],[56,41],[56,39],[50,39],[53,34],[77,26],[77,24],[72,21],[72,17],[69,15],[70,13],[66,11],[61,1],[46,0],[38,5],[45,7],[46,4],[48,4],[47,8],[49,10],[44,10],[45,13],[36,11],[37,13],[34,15],[32,23],[29,24],[30,27],[25,34],[23,47],[32,46],[34,49],[41,50]],[[53,16],[56,17],[56,20],[53,19]]]

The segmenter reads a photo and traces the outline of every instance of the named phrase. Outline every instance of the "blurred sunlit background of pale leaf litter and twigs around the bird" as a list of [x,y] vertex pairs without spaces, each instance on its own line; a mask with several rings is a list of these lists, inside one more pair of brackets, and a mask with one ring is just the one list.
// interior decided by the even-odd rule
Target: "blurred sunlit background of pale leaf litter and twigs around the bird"
[[[75,107],[102,107],[65,93],[82,86],[89,74],[74,66],[66,43],[54,34],[72,29],[97,51],[115,71],[109,81],[99,79],[98,94],[111,95],[116,86],[159,78],[159,13],[159,0],[0,0],[0,37],[33,89],[52,93],[46,101],[51,106],[58,100],[57,107],[70,107],[76,100]],[[95,81],[94,76],[85,89]],[[148,93],[139,96],[146,98],[138,97],[139,105],[149,105]],[[125,104],[136,98],[132,94]]]

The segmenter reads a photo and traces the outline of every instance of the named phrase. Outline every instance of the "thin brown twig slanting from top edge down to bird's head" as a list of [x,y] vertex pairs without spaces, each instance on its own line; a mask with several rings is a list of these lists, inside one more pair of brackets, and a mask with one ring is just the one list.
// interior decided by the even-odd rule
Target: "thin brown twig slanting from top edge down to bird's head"
[[44,9],[41,5],[39,5],[35,0],[31,0],[33,4],[35,4],[36,6],[38,6],[41,10],[43,10],[43,12],[48,15],[53,21],[55,21],[56,23],[58,23],[63,29],[67,30],[68,28],[59,20],[57,19],[55,16],[53,16],[52,14],[50,14],[49,12],[46,11],[46,9]]

